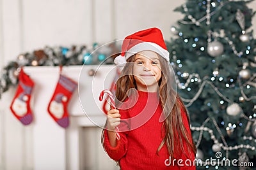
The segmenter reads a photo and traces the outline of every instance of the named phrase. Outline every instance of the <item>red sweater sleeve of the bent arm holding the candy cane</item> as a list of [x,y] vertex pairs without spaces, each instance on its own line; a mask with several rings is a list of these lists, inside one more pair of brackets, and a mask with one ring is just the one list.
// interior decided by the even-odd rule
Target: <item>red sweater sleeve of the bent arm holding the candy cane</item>
[[[121,124],[118,125],[120,131],[121,129],[128,129],[129,125],[127,124],[126,120],[122,119],[127,119],[128,112],[127,111],[122,111],[120,110],[120,115],[121,115]],[[120,139],[116,139],[116,146],[113,147],[110,145],[109,138],[108,138],[108,131],[104,130],[104,148],[106,152],[108,153],[109,157],[113,160],[120,160],[124,155],[127,153],[127,134],[128,131],[125,132],[118,132],[120,134]]]

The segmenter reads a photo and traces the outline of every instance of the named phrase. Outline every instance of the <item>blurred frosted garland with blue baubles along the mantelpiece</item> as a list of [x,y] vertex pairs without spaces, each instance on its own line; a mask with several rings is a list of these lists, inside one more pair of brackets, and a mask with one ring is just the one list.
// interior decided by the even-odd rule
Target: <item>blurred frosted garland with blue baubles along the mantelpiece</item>
[[[3,92],[17,85],[20,67],[24,66],[74,66],[88,64],[113,64],[113,59],[119,55],[120,49],[115,43],[99,46],[72,45],[45,46],[33,52],[20,53],[16,60],[7,64],[0,76],[0,99]],[[107,57],[108,56],[108,57]]]

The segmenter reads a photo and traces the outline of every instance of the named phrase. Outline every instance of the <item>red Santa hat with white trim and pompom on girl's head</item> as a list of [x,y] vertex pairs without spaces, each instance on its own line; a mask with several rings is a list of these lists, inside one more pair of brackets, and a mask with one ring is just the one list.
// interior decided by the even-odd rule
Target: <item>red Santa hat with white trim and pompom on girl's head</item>
[[114,62],[116,65],[124,67],[129,57],[145,50],[156,52],[169,62],[170,54],[164,43],[163,34],[160,29],[155,27],[138,31],[125,37],[122,44],[122,52],[115,58]]

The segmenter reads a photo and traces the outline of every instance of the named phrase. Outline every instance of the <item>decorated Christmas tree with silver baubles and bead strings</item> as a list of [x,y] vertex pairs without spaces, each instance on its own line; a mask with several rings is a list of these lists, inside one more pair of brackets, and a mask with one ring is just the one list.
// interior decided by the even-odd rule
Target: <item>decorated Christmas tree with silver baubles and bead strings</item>
[[[196,159],[202,160],[198,169],[256,169],[256,40],[250,28],[255,12],[250,2],[187,0],[175,9],[184,18],[171,27],[175,36],[167,44],[189,111]],[[215,161],[207,161],[211,158]],[[241,162],[244,167],[238,167]]]

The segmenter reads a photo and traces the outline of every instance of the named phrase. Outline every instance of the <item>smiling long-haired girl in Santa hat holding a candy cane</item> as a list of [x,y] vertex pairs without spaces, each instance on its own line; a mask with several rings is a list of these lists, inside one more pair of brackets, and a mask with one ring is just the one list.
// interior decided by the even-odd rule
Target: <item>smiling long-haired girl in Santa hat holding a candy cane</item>
[[108,111],[102,132],[109,157],[122,170],[195,169],[188,112],[173,90],[161,31],[151,28],[127,36],[115,63],[124,68],[116,82],[117,107]]

